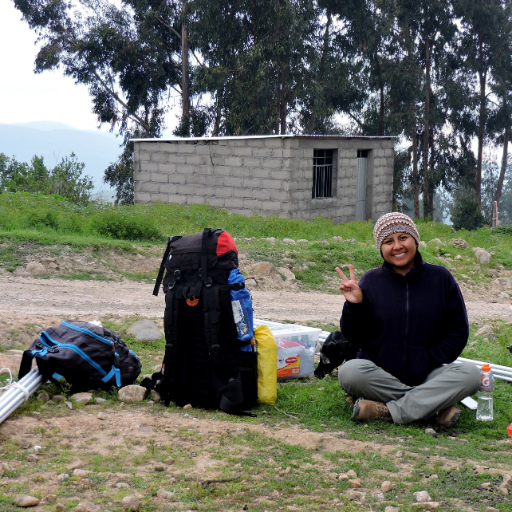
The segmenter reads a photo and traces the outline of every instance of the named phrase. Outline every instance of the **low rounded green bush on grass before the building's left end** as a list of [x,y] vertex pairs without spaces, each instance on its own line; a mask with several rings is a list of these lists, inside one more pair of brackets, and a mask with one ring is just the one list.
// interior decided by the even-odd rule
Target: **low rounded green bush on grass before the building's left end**
[[127,215],[119,210],[98,214],[93,219],[92,226],[98,234],[117,240],[156,242],[164,238],[150,219]]

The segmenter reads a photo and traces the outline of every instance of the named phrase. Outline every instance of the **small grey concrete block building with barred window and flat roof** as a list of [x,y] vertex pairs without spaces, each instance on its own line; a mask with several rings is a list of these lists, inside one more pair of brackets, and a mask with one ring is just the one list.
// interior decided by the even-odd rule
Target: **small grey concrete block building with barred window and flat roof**
[[395,137],[135,139],[135,202],[334,222],[391,211]]

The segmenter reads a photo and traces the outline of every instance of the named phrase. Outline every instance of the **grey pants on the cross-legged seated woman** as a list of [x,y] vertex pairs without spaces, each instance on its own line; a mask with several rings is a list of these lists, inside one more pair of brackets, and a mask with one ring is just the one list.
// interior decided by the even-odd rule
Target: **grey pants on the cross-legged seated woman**
[[367,359],[352,359],[338,370],[341,387],[353,397],[384,402],[395,423],[430,418],[476,393],[480,370],[454,362],[432,370],[423,384],[407,386]]

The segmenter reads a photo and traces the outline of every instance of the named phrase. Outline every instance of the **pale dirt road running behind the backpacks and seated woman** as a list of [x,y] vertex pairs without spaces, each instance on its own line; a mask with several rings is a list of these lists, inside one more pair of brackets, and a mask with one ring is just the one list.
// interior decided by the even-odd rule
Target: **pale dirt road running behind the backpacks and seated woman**
[[[90,317],[113,314],[160,317],[164,298],[152,295],[153,286],[123,281],[69,281],[0,276],[0,320],[17,315]],[[343,297],[317,292],[289,290],[251,291],[254,314],[267,320],[335,322],[343,307]],[[466,300],[470,321],[511,320],[507,303]]]

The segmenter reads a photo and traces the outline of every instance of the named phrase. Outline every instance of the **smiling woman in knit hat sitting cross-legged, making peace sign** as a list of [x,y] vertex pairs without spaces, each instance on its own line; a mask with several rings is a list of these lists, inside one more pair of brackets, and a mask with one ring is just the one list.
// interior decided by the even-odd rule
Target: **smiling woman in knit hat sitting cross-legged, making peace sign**
[[341,330],[360,344],[357,359],[338,373],[341,387],[360,397],[353,418],[409,423],[435,416],[439,426],[451,427],[460,416],[454,404],[480,385],[474,364],[454,363],[469,336],[457,282],[446,268],[422,260],[407,215],[382,216],[373,236],[381,267],[359,283],[352,265],[350,278],[336,268],[346,299]]

